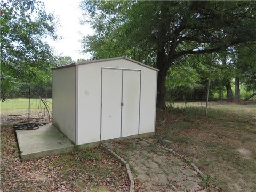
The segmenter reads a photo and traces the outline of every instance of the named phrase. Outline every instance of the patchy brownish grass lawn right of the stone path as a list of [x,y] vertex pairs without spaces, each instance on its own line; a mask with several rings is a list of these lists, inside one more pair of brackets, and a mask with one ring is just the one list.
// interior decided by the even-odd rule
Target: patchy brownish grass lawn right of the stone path
[[[175,106],[175,105],[174,105]],[[256,103],[210,103],[157,113],[157,135],[222,191],[256,191]]]

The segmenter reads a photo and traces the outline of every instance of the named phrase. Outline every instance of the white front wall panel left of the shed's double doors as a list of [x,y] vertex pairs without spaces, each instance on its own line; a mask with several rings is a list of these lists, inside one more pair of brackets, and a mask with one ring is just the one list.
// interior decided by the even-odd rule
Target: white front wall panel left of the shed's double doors
[[101,68],[79,66],[78,70],[78,145],[100,141]]

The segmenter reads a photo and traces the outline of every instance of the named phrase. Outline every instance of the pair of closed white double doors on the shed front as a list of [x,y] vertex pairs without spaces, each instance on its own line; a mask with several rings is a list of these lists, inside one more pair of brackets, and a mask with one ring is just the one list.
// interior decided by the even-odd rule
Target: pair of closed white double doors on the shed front
[[139,134],[141,71],[102,68],[101,140]]

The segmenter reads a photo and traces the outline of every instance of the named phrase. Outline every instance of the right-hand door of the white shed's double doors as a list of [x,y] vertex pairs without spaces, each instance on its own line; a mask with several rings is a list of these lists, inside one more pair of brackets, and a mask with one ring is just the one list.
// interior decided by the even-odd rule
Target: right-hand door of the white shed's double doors
[[123,71],[122,137],[139,134],[140,71]]

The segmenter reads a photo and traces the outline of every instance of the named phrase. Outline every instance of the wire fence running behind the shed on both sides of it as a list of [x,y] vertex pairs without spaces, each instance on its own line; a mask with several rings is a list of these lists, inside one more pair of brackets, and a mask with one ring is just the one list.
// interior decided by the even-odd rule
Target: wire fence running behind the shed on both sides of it
[[[241,95],[241,101],[253,92]],[[10,94],[11,95],[11,94]],[[33,91],[20,91],[12,94],[13,97],[1,102],[1,125],[25,122],[51,122],[52,119],[52,92],[36,94]],[[42,97],[41,95],[44,95]],[[41,97],[40,97],[41,96]],[[166,92],[167,107],[205,107],[207,92],[177,93]],[[256,101],[256,96],[249,99]],[[227,102],[225,91],[210,91],[209,103]]]

